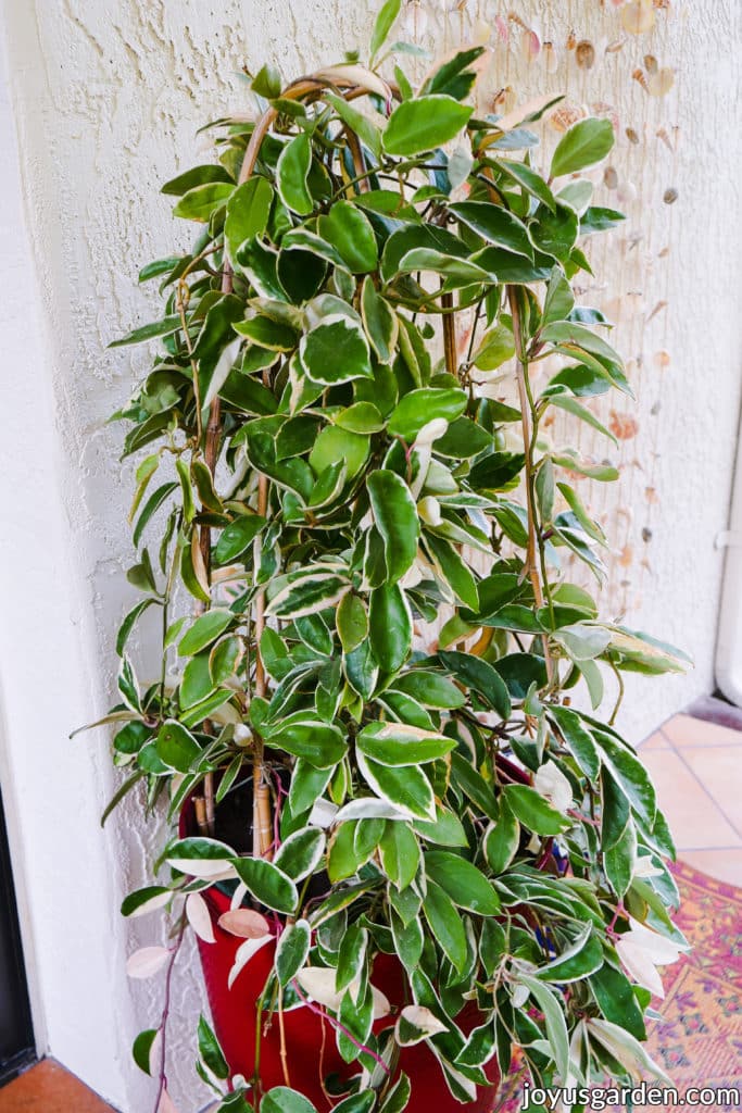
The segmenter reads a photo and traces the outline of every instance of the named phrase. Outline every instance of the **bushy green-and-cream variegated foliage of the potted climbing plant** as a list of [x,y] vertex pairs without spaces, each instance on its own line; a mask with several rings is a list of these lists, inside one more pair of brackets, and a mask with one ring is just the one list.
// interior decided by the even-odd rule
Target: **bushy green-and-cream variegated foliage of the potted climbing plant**
[[[546,105],[505,120],[467,104],[479,48],[415,90],[398,68],[380,76],[398,7],[368,67],[288,85],[266,67],[260,115],[212,125],[218,159],[164,187],[194,247],[144,268],[162,315],[116,342],[158,351],[117,414],[125,454],[147,451],[131,510],[141,598],[109,717],[129,778],[113,802],[142,781],[171,817],[194,798],[200,828],[125,912],[167,906],[176,933],[188,915],[208,939],[199,890],[218,874],[250,915],[288,917],[301,945],[278,948],[271,978],[296,987],[295,1007],[314,994],[330,1023],[343,1015],[364,1113],[404,1107],[378,1063],[393,1076],[418,1040],[462,1102],[516,1048],[538,1085],[661,1074],[641,1044],[657,956],[641,940],[682,945],[667,826],[598,710],[606,670],[684,662],[570,581],[565,558],[600,578],[605,545],[578,487],[617,472],[544,434],[554,411],[598,425],[591,397],[630,390],[607,322],[573,290],[586,237],[622,219],[573,177],[612,128],[580,121],[540,170],[528,125]],[[547,356],[562,366],[536,391]],[[184,589],[192,618],[175,618]],[[142,686],[127,646],[150,609],[162,669]],[[568,706],[573,689],[592,712]],[[248,776],[253,857],[212,838]],[[307,904],[323,871],[329,895]],[[413,1003],[382,1033],[379,951],[397,954]],[[280,1009],[281,994],[265,999]],[[466,1002],[481,1011],[469,1035]],[[135,1045],[155,1074],[158,1038]],[[218,1090],[229,1068],[204,1020],[199,1040]],[[259,1067],[250,1081],[225,1110],[259,1101]],[[274,1106],[307,1103],[280,1087]]]

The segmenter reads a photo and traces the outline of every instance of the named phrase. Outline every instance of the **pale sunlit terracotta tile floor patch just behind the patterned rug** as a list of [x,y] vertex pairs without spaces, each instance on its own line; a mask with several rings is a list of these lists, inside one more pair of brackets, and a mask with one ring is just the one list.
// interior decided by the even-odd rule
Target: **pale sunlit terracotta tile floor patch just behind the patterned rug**
[[705,698],[640,749],[677,856],[742,888],[742,715]]

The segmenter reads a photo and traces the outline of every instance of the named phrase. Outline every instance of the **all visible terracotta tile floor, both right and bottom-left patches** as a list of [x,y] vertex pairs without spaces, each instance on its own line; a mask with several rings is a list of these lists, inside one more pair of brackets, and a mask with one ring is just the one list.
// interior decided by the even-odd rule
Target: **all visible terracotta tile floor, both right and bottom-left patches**
[[[684,861],[742,888],[742,711],[705,698],[641,746]],[[53,1060],[0,1090],[0,1113],[115,1113]]]

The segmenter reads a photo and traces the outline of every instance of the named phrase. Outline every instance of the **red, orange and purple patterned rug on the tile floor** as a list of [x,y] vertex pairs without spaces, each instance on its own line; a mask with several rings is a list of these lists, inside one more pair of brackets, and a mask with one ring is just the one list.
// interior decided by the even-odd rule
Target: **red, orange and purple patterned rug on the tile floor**
[[[649,1030],[647,1050],[673,1080],[682,1103],[691,1086],[742,1087],[742,889],[684,863],[673,873],[681,893],[675,919],[693,949],[662,971],[662,1020]],[[498,1113],[521,1109],[517,1092],[501,1094],[499,1102]],[[675,1107],[681,1104],[667,1106]],[[739,1109],[724,1102],[704,1107]],[[635,1105],[631,1113],[645,1109]]]

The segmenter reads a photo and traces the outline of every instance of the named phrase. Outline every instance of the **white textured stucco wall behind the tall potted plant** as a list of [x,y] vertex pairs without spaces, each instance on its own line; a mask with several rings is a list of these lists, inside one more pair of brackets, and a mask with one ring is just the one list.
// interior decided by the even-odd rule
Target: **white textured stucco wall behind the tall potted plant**
[[[48,708],[39,700],[24,713],[16,686],[23,654],[6,639],[3,785],[7,776],[24,800],[38,794],[32,811],[17,807],[16,828],[46,1038],[123,1113],[148,1107],[128,1046],[139,1027],[156,1023],[160,1002],[157,985],[132,994],[120,976],[125,952],[156,942],[157,928],[142,920],[129,934],[116,903],[144,879],[151,836],[120,818],[101,840],[96,815],[110,787],[106,738],[99,731],[79,741],[75,758],[66,742],[72,727],[110,701],[112,631],[131,597],[125,579],[130,465],[117,463],[121,432],[105,420],[130,393],[145,356],[108,353],[106,344],[150,318],[150,295],[137,288],[136,274],[169,254],[178,235],[159,184],[204,154],[198,126],[246,104],[241,66],[268,59],[287,75],[306,71],[363,42],[370,18],[355,0],[6,0],[20,180],[40,295],[38,327],[21,304],[11,303],[8,314],[26,329],[18,329],[16,363],[3,366],[19,402],[7,417],[18,461],[11,475],[18,489],[31,475],[53,530],[51,556],[37,564],[11,546],[3,572],[28,605],[44,601],[43,614],[37,605],[34,646],[53,657],[33,657],[32,664],[55,677]],[[585,301],[616,303],[609,306],[619,321],[616,343],[631,361],[639,401],[622,406],[615,421],[623,418],[624,433],[633,427],[626,417],[637,427],[620,451],[583,435],[581,447],[612,456],[624,476],[617,499],[586,498],[600,500],[616,539],[606,597],[613,613],[625,610],[698,662],[687,679],[630,686],[624,723],[640,738],[712,686],[722,561],[713,542],[726,524],[740,403],[742,148],[732,101],[742,42],[733,0],[662,3],[654,30],[641,37],[626,35],[619,20],[607,0],[482,0],[478,8],[474,0],[427,0],[408,11],[407,33],[444,49],[482,39],[486,28],[487,97],[502,87],[506,99],[566,91],[576,111],[597,105],[619,122],[616,189],[612,195],[598,175],[598,196],[600,204],[626,207],[630,221],[598,249],[596,288],[586,288]],[[595,50],[590,70],[567,50],[573,30]],[[544,50],[546,41],[553,51]],[[676,70],[666,97],[650,97],[632,78],[645,55]],[[662,200],[669,188],[679,191],[674,205]],[[657,355],[665,351],[667,366]],[[30,395],[21,383],[32,386]],[[41,433],[36,450],[24,432],[30,423]],[[19,518],[20,506],[9,530],[20,529]],[[28,534],[37,541],[50,528],[41,511],[39,518]],[[24,611],[18,598],[11,602],[20,624]],[[66,807],[59,786],[71,791]],[[197,1002],[197,984],[184,974],[171,1024],[171,1084],[181,1113],[194,1113],[202,1097],[188,1055]]]

